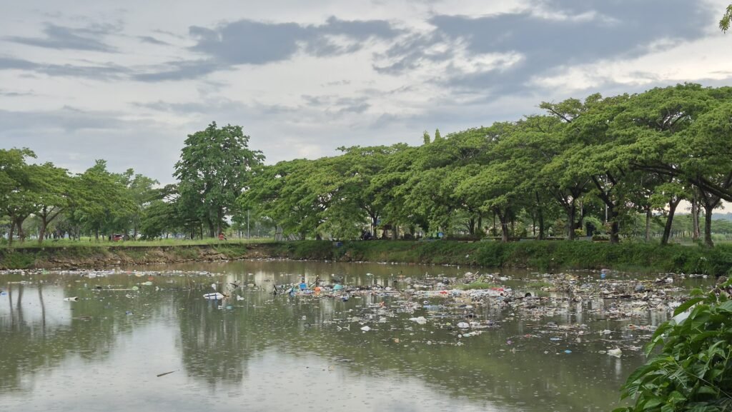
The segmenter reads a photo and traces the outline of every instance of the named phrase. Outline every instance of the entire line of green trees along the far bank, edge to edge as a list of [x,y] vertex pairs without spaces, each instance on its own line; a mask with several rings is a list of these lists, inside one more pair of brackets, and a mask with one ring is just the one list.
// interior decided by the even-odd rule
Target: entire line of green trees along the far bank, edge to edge
[[[641,94],[544,102],[545,113],[424,144],[354,146],[338,156],[264,165],[242,127],[189,135],[176,184],[111,173],[103,160],[70,176],[30,164],[28,149],[0,150],[0,215],[8,238],[97,239],[111,233],[216,236],[232,223],[283,236],[354,239],[365,232],[466,233],[567,239],[604,231],[669,241],[682,201],[692,236],[712,245],[712,211],[732,201],[732,88],[683,84]],[[644,228],[638,228],[638,216]],[[700,220],[703,216],[703,225]],[[0,216],[1,217],[1,216]],[[703,227],[703,230],[702,230]],[[678,230],[678,229],[676,229]]]

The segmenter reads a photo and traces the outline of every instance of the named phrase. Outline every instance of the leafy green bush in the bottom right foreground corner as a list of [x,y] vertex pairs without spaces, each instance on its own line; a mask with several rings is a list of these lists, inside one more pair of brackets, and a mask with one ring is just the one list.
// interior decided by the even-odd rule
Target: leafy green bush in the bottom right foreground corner
[[660,353],[622,387],[635,405],[613,412],[732,411],[731,290],[729,280],[706,296],[692,292],[674,312],[678,322],[663,323],[646,346],[646,356]]

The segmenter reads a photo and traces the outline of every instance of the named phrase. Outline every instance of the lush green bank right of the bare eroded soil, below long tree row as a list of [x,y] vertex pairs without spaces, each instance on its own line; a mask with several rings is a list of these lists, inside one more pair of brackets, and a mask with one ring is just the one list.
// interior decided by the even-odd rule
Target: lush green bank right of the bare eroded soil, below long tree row
[[294,241],[273,244],[272,252],[295,259],[525,267],[545,271],[611,268],[720,275],[732,269],[732,245],[728,244],[707,249],[633,242],[353,241],[335,247],[329,241]]

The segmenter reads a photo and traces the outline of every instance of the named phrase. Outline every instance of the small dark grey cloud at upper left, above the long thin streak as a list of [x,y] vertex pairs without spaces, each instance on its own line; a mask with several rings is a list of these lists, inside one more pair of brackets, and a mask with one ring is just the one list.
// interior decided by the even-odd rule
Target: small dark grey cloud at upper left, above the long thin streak
[[24,45],[59,50],[87,50],[113,52],[115,48],[100,40],[107,34],[119,31],[119,26],[105,24],[76,29],[46,23],[43,33],[45,37],[5,37],[5,40]]

